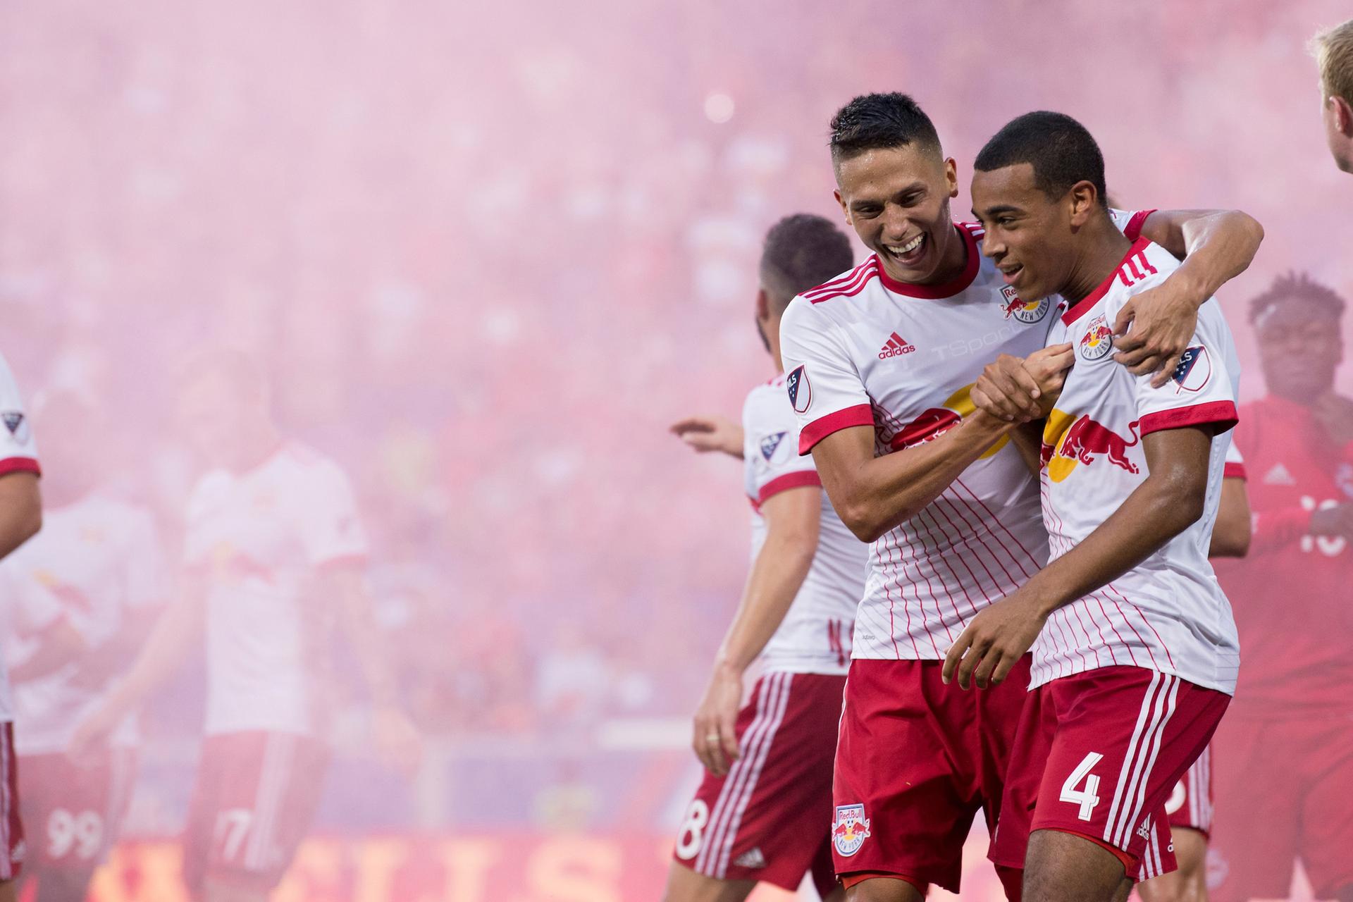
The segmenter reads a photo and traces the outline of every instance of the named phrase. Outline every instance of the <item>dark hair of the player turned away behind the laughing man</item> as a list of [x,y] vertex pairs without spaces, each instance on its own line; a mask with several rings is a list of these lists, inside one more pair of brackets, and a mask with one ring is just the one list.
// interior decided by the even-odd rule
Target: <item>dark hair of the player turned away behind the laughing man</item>
[[855,265],[855,252],[829,219],[813,214],[785,216],[766,233],[760,283],[771,310],[783,312],[794,295],[816,288]]

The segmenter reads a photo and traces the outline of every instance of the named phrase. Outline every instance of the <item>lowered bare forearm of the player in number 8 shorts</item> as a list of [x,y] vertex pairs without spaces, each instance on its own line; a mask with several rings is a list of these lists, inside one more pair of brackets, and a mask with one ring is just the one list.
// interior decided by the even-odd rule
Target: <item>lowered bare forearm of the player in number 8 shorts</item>
[[817,537],[798,531],[769,533],[762,545],[737,613],[728,627],[714,668],[741,673],[756,660],[785,621],[817,552]]

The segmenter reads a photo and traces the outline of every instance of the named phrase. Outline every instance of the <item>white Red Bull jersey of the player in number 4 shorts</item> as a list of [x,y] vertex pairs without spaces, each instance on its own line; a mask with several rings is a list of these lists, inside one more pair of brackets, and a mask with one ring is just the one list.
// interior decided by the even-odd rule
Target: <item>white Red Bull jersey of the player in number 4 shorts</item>
[[[1076,364],[1043,433],[1043,522],[1057,559],[1103,523],[1147,476],[1143,435],[1214,425],[1203,517],[1103,590],[1049,618],[1034,644],[1031,686],[1097,667],[1128,664],[1234,692],[1239,642],[1231,606],[1207,561],[1220,502],[1239,373],[1230,329],[1215,300],[1164,388],[1112,360],[1114,322],[1132,295],[1161,284],[1178,262],[1138,238],[1099,288],[1061,311],[1049,343],[1070,342]],[[1065,307],[1065,302],[1062,303]]]

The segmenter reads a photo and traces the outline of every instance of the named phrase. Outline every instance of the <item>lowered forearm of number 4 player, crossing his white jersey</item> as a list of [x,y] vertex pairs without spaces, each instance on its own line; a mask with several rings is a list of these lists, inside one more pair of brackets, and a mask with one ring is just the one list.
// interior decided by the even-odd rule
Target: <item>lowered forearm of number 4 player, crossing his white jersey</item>
[[1036,599],[1039,613],[1050,614],[1132,569],[1201,515],[1201,492],[1153,473],[1082,542],[1035,573],[1023,591]]

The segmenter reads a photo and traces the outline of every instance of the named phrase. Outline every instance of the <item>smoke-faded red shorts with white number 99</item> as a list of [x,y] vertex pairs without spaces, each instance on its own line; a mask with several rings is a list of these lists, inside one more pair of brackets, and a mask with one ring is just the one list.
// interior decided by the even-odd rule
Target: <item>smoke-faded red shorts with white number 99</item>
[[93,871],[131,803],[135,752],[104,748],[80,764],[64,753],[24,755],[19,772],[34,867]]

